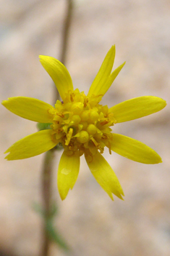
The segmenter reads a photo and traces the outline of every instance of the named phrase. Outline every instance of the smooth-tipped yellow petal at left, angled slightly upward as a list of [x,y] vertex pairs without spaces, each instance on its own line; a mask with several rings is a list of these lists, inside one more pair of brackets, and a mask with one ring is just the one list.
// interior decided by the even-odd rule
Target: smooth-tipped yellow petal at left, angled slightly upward
[[48,113],[53,107],[32,97],[9,97],[8,100],[2,101],[2,105],[24,119],[40,123],[51,123],[53,120]]

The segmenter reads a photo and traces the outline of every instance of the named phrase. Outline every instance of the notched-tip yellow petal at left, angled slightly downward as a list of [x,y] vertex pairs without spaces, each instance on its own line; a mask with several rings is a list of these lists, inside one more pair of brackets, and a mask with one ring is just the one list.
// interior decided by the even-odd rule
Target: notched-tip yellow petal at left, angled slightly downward
[[27,159],[32,156],[37,156],[43,152],[54,148],[56,143],[51,140],[51,129],[46,129],[40,132],[35,132],[33,135],[28,135],[17,143],[14,143],[5,153],[9,153],[5,157],[7,160]]

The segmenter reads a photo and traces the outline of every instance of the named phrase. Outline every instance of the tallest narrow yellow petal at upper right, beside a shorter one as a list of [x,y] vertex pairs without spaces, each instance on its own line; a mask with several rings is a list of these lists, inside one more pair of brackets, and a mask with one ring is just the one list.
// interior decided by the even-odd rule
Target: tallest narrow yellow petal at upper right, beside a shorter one
[[105,94],[105,92],[107,91],[107,89],[105,89],[105,84],[111,74],[111,69],[113,68],[113,65],[114,65],[114,57],[115,57],[115,46],[112,46],[111,49],[109,49],[109,52],[107,53],[106,57],[104,58],[97,76],[95,76],[95,79],[91,84],[91,87],[88,92],[88,96]]

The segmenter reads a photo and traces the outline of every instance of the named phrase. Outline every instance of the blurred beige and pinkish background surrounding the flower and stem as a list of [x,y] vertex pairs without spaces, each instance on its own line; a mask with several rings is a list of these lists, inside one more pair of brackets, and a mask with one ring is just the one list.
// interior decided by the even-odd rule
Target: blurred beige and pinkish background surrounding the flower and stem
[[[64,0],[0,0],[0,97],[27,96],[52,103],[54,88],[38,55],[59,58],[66,11]],[[103,97],[109,107],[132,97],[154,95],[168,105],[143,119],[116,124],[114,132],[146,143],[162,164],[140,164],[116,153],[104,156],[124,189],[114,202],[96,183],[81,159],[80,175],[61,201],[54,165],[53,199],[59,205],[56,227],[71,248],[55,244],[51,256],[170,255],[170,1],[75,0],[69,36],[67,68],[74,87],[88,92],[106,52],[116,44],[114,68],[126,60]],[[37,131],[36,124],[1,105],[0,132],[0,255],[36,256],[41,247],[43,155],[4,160],[4,151]],[[6,253],[6,254],[5,254]]]

